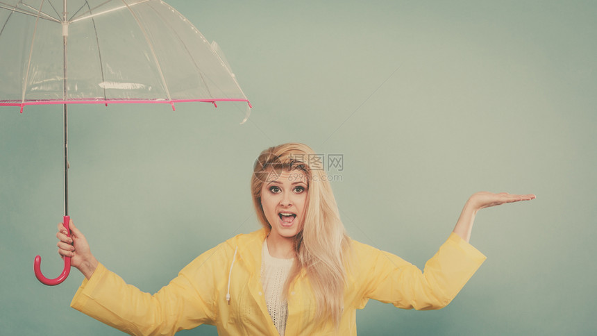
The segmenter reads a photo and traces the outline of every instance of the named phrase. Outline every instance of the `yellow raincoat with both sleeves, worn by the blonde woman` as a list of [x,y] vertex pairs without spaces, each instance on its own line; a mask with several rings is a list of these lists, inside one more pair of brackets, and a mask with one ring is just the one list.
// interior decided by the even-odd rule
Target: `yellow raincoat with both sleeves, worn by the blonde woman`
[[[133,335],[173,335],[200,324],[217,326],[219,335],[278,335],[260,280],[266,235],[262,229],[226,240],[199,255],[153,295],[126,285],[100,264],[89,280],[83,280],[71,306]],[[454,233],[423,272],[391,253],[352,244],[355,262],[348,273],[339,330],[330,323],[312,322],[316,303],[303,271],[289,289],[287,336],[356,335],[356,309],[364,308],[369,299],[405,309],[443,308],[485,260]]]

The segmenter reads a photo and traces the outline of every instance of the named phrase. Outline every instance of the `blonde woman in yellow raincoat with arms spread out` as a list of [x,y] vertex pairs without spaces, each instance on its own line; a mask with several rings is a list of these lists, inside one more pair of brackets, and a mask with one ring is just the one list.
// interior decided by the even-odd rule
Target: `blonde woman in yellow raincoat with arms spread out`
[[58,252],[85,276],[72,307],[135,335],[172,335],[214,324],[220,335],[355,335],[355,310],[369,299],[439,309],[485,255],[469,242],[481,208],[535,195],[479,192],[421,272],[391,253],[351,240],[322,167],[304,144],[282,144],[255,161],[251,192],[264,228],[199,255],[151,295],[126,285],[90,252],[74,225],[58,226]]

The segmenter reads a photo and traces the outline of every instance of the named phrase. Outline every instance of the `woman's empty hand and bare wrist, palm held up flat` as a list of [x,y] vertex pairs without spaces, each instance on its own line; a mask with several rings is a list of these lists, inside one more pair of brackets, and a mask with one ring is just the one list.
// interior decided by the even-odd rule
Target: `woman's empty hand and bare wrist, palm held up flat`
[[507,192],[494,194],[493,192],[476,192],[464,204],[464,208],[460,213],[453,233],[459,235],[463,240],[469,242],[471,240],[471,231],[473,230],[473,223],[477,212],[482,208],[489,208],[490,206],[501,205],[503,203],[512,203],[519,201],[530,201],[535,199],[535,195],[511,195]]

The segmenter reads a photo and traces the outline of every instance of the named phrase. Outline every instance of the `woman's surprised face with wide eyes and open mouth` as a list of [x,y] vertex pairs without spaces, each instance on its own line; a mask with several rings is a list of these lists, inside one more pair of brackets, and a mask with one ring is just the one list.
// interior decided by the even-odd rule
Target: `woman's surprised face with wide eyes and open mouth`
[[[261,187],[261,206],[271,226],[271,238],[292,238],[303,229],[307,176],[302,170],[269,174]],[[273,235],[273,237],[272,237]]]

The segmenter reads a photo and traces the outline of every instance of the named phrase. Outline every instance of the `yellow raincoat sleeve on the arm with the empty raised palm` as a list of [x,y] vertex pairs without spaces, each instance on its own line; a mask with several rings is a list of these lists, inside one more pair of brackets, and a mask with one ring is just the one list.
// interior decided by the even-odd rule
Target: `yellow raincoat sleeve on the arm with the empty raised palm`
[[392,253],[360,243],[355,249],[362,280],[358,308],[369,299],[404,309],[444,308],[486,259],[455,233],[426,262],[422,272]]

